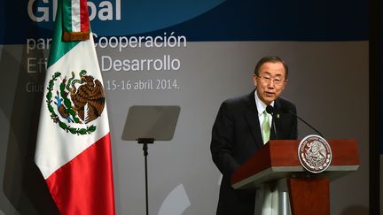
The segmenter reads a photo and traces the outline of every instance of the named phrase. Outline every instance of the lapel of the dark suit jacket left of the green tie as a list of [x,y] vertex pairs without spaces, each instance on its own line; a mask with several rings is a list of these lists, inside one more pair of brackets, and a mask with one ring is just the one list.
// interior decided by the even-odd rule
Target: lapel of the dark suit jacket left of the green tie
[[255,104],[254,91],[247,96],[246,103],[245,117],[247,125],[253,134],[255,144],[258,147],[262,147],[263,141],[261,127],[258,119],[257,107]]

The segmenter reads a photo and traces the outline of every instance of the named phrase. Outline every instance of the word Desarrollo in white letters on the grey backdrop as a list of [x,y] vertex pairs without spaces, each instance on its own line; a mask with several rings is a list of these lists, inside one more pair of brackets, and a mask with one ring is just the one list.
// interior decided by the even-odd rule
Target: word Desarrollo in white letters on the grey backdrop
[[109,56],[101,57],[101,70],[110,71],[170,71],[179,70],[181,61],[177,58],[171,58],[170,55],[164,55],[157,59],[113,59]]

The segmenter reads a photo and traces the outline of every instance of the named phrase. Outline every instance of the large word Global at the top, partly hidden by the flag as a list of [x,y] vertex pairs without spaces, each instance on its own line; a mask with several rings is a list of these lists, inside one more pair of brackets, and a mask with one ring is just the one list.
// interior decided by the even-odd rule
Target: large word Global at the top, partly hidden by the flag
[[[115,0],[114,4],[111,1],[100,1],[98,5],[88,1],[87,5],[90,20],[96,17],[102,21],[121,20],[121,0]],[[27,13],[35,22],[49,22],[56,19],[57,7],[58,0],[29,0]]]

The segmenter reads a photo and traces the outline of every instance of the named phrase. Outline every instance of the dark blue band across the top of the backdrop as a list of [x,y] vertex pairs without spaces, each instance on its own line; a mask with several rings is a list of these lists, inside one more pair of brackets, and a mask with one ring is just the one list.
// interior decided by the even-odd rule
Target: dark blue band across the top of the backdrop
[[[0,43],[50,37],[56,1],[29,0],[26,10],[18,1],[1,0]],[[369,31],[363,0],[111,0],[89,1],[89,9],[93,31],[103,36],[174,31],[191,42],[359,41]]]

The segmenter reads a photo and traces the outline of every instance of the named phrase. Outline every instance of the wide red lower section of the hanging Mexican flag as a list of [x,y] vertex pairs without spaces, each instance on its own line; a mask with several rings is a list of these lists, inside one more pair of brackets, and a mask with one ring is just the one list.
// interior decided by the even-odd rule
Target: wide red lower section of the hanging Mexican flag
[[59,168],[46,182],[61,214],[115,214],[110,133]]

